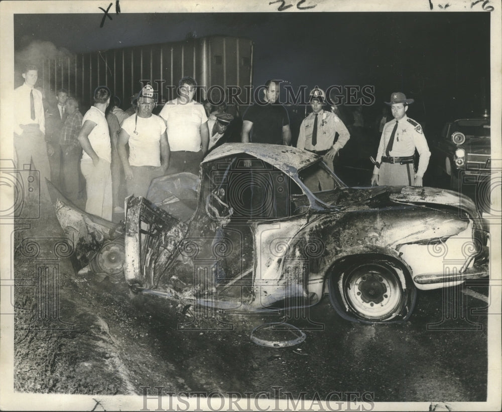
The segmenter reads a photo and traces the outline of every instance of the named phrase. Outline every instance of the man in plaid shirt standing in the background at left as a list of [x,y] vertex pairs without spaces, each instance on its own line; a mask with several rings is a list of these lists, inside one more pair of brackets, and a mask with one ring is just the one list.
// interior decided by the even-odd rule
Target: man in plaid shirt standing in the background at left
[[76,203],[80,198],[80,167],[82,148],[78,143],[78,132],[82,128],[82,113],[78,111],[78,102],[73,97],[66,100],[67,117],[61,129],[60,145],[63,152],[62,189],[65,196]]

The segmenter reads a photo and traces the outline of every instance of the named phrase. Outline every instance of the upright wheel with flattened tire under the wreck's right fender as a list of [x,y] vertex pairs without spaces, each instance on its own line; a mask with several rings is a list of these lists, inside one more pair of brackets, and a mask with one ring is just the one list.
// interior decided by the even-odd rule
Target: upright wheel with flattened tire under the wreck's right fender
[[405,321],[415,306],[415,286],[404,270],[390,260],[348,265],[331,274],[328,288],[335,310],[352,322]]

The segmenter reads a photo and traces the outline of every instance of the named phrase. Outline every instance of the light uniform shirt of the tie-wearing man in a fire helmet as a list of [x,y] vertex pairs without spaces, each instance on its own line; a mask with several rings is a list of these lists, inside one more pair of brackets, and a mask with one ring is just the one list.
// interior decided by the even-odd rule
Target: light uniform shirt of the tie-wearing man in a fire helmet
[[[321,152],[333,147],[338,151],[348,142],[350,133],[340,118],[335,113],[321,110],[317,115],[317,144],[312,146],[314,122],[314,113],[310,113],[303,119],[300,125],[300,133],[298,134],[297,148]],[[333,143],[337,132],[338,140],[336,143]]]

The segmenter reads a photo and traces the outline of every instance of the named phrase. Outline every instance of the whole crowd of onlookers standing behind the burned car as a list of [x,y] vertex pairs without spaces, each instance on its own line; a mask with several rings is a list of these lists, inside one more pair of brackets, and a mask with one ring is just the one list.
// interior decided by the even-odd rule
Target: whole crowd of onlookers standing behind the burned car
[[[98,86],[93,105],[82,114],[65,89],[56,91],[55,101],[44,101],[43,90],[35,88],[36,66],[26,66],[22,76],[24,84],[15,89],[18,168],[33,164],[39,171],[43,200],[48,200],[47,177],[68,200],[108,220],[123,213],[127,195],[147,196],[153,179],[181,172],[198,175],[204,156],[224,142],[293,145],[322,156],[333,170],[345,145],[364,154],[381,135],[372,184],[421,185],[430,156],[421,126],[406,116],[413,99],[400,92],[386,102],[392,114],[384,109],[367,133],[362,106],[351,112],[340,106],[325,110],[326,96],[318,87],[309,94],[310,114],[295,123],[279,103],[280,82],[274,80],[266,82],[263,100],[242,116],[239,110],[235,116],[228,113],[225,103],[197,102],[197,83],[190,76],[179,81],[178,96],[163,105],[147,84],[126,110],[108,87]],[[415,149],[420,154],[417,171],[412,165]],[[313,183],[319,190],[329,189],[326,184],[321,177]],[[30,196],[25,194],[26,201]]]

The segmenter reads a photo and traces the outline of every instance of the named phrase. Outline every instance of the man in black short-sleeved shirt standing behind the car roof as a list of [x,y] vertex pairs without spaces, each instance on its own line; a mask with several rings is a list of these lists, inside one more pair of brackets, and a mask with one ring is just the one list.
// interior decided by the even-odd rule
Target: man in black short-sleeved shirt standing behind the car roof
[[286,107],[279,99],[279,81],[265,83],[265,103],[255,102],[244,113],[240,139],[242,143],[291,144],[291,129]]

